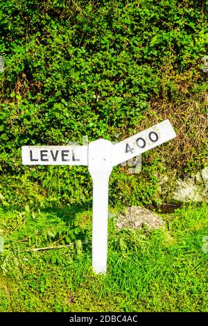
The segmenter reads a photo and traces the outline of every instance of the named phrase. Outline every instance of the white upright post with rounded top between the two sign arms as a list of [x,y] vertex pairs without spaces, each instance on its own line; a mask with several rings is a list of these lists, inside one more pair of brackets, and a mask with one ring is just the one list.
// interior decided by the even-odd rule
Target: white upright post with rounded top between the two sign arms
[[93,180],[92,267],[107,270],[108,180],[112,171],[112,143],[98,139],[89,143],[89,173]]

